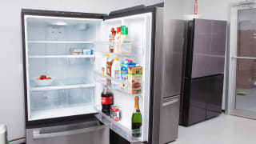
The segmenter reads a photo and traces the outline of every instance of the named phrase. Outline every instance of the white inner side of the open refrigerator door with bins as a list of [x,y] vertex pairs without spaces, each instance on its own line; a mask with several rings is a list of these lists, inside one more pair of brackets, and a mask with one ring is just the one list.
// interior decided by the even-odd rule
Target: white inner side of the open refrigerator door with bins
[[[130,54],[110,53],[109,46],[113,43],[109,41],[109,34],[112,28],[126,26],[129,29]],[[149,133],[149,114],[150,114],[150,72],[151,72],[151,34],[152,33],[152,13],[135,14],[120,18],[106,19],[102,22],[102,33],[99,35],[99,42],[96,45],[94,78],[96,80],[95,104],[98,114],[96,117],[111,130],[122,136],[129,142],[147,142]],[[122,45],[120,42],[114,42],[114,45]],[[116,48],[116,46],[114,46]],[[142,67],[141,90],[134,92],[129,86],[135,86],[134,82],[128,78],[113,78],[108,74],[102,74],[102,59],[106,54],[112,58],[118,58],[120,63],[127,59],[136,63],[136,66]],[[121,66],[120,66],[121,70]],[[122,73],[122,70],[121,70]],[[113,74],[112,74],[113,75]],[[122,74],[121,74],[122,75]],[[109,84],[109,82],[111,84]],[[108,86],[114,94],[113,104],[118,106],[120,111],[120,120],[114,121],[107,114],[102,113],[102,90]],[[127,86],[127,87],[126,87]],[[134,97],[139,98],[139,107],[142,114],[142,127],[140,137],[132,135],[132,115],[134,111]]]

